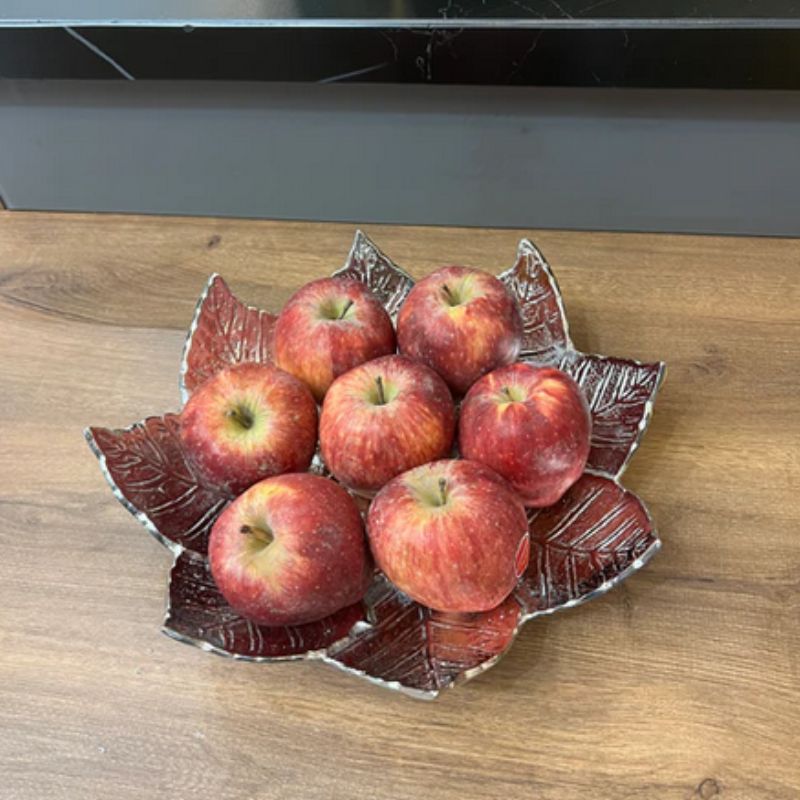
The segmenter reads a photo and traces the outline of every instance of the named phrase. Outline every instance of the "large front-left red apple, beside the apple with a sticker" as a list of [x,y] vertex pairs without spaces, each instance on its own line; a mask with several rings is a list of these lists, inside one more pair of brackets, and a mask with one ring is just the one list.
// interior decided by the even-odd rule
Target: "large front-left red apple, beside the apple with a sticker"
[[372,576],[364,525],[339,485],[310,473],[251,486],[220,515],[211,574],[231,607],[262,625],[302,625],[360,600]]

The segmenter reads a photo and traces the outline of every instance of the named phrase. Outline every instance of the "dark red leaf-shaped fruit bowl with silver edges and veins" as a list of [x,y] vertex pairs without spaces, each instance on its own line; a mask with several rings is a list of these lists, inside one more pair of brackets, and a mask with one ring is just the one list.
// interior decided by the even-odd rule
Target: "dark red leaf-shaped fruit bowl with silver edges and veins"
[[[393,319],[414,283],[360,231],[335,275],[363,281]],[[209,532],[232,498],[193,468],[177,435],[178,417],[150,417],[122,430],[89,428],[87,441],[116,498],[173,553],[167,635],[235,659],[318,659],[432,698],[489,669],[525,622],[596,597],[656,553],[660,542],[647,509],[619,478],[647,427],[664,364],[576,350],[550,267],[529,241],[499,277],[522,310],[521,359],[569,372],[586,393],[593,421],[584,475],[555,505],[530,514],[530,565],[511,596],[485,613],[444,614],[378,574],[363,603],[320,622],[256,625],[227,605],[211,579]],[[274,315],[240,302],[212,275],[186,339],[182,400],[223,367],[269,360],[274,324]],[[319,455],[311,469],[326,474]]]

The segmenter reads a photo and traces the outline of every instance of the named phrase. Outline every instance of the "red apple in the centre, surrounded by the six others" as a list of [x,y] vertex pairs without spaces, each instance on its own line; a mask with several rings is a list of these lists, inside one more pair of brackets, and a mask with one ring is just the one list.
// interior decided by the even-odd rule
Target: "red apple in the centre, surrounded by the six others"
[[372,492],[401,472],[449,455],[454,431],[447,384],[423,364],[384,356],[331,384],[319,441],[338,480]]

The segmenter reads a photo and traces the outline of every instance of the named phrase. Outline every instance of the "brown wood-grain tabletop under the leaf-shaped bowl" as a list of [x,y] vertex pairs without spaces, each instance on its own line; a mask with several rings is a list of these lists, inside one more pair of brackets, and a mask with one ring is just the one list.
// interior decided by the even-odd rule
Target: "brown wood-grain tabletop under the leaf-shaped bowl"
[[417,276],[529,235],[579,347],[668,362],[625,478],[663,551],[435,703],[167,639],[168,554],[81,429],[177,407],[210,272],[277,310],[353,227],[0,212],[0,796],[800,798],[800,243],[368,233]]

